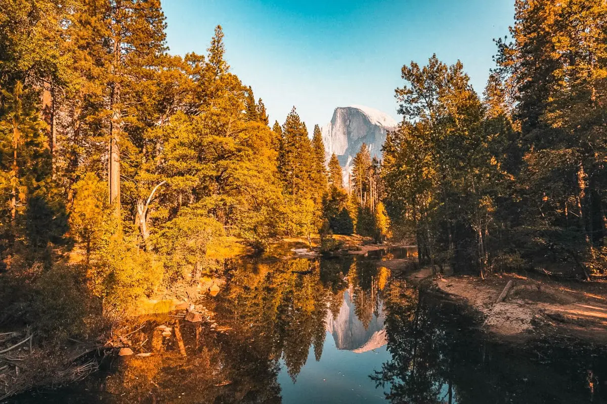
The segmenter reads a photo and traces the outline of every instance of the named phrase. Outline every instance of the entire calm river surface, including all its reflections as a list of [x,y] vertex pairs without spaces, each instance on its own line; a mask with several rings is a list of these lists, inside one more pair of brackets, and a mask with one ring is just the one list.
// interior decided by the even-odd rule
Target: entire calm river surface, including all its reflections
[[605,349],[493,342],[476,316],[382,267],[390,256],[407,251],[228,262],[226,285],[203,302],[213,328],[148,320],[130,338],[152,356],[107,359],[83,382],[12,402],[607,402]]

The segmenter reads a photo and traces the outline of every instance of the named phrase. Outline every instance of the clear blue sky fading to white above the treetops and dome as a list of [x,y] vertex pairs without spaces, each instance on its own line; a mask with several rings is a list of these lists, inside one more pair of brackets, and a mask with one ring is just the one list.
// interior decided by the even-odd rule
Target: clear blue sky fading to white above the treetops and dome
[[377,108],[396,121],[401,68],[458,59],[483,93],[494,38],[514,0],[162,0],[171,53],[206,53],[215,25],[232,73],[282,124],[293,106],[311,132],[336,107]]

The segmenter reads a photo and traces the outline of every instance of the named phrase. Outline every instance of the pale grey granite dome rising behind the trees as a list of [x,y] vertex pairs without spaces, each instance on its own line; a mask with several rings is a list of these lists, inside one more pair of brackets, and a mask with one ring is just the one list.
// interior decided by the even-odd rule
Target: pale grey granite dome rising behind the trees
[[363,105],[337,107],[331,122],[322,128],[322,141],[328,157],[335,153],[344,171],[344,185],[348,185],[348,174],[352,161],[361,145],[366,143],[371,157],[381,159],[381,147],[388,130],[397,125],[388,114]]

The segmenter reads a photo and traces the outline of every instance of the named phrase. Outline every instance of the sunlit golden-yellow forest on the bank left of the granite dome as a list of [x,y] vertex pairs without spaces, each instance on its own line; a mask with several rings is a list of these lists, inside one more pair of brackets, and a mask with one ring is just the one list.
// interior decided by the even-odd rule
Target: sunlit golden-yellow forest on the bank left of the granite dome
[[270,127],[220,26],[181,57],[159,0],[0,8],[0,323],[89,333],[243,244],[387,237],[379,162],[361,150],[349,193],[318,125]]

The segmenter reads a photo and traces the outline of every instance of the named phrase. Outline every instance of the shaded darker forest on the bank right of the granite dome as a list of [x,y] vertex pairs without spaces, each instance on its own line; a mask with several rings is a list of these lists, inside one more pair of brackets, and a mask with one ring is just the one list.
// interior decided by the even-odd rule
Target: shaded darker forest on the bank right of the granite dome
[[515,2],[484,98],[461,62],[402,67],[385,205],[419,260],[455,271],[607,268],[607,5]]

